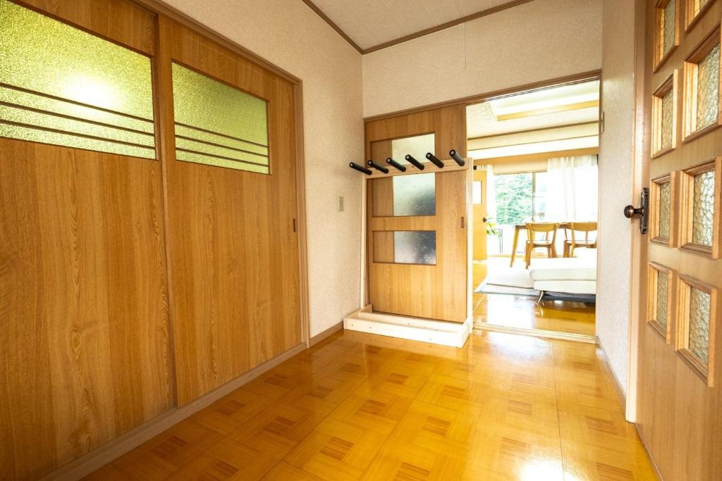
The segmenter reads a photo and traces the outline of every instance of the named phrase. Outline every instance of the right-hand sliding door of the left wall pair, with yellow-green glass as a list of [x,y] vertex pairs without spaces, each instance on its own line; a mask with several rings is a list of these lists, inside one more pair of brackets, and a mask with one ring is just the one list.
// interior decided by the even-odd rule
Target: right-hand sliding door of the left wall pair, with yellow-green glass
[[160,35],[183,405],[303,341],[295,97],[290,81],[178,22],[162,17]]

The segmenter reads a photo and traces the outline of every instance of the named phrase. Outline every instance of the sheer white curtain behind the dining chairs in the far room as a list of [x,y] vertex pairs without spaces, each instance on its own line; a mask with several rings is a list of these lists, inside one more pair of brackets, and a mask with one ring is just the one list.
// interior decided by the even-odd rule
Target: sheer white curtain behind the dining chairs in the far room
[[596,221],[599,168],[596,155],[557,157],[547,166],[545,221]]

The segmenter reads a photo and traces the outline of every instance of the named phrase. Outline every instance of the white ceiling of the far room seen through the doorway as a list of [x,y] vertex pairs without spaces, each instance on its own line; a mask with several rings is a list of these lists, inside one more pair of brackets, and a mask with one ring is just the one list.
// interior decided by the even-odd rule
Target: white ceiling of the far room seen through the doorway
[[500,133],[529,131],[599,120],[599,107],[541,113],[528,117],[498,120],[497,115],[513,114],[549,107],[563,107],[578,102],[599,100],[599,81],[544,89],[528,94],[491,100],[466,108],[466,129],[469,138],[495,136]]

